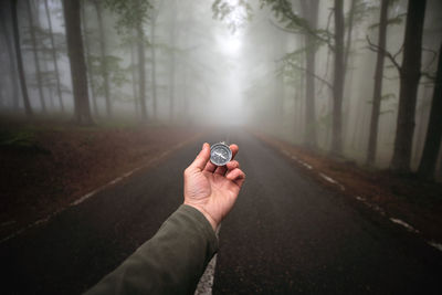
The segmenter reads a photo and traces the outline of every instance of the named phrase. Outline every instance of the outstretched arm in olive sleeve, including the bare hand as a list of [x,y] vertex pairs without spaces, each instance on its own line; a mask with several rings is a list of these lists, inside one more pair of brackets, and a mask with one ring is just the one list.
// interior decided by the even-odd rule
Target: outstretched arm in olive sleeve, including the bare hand
[[[232,155],[238,146],[230,146]],[[192,294],[218,250],[214,230],[232,209],[245,175],[238,161],[209,161],[210,147],[185,171],[185,203],[158,232],[86,294]]]

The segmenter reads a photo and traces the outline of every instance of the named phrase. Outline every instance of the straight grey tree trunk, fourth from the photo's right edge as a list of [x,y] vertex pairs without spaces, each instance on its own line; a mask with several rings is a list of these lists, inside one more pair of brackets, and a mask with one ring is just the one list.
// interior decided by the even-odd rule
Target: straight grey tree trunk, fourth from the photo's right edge
[[335,66],[333,82],[332,154],[343,152],[343,93],[344,93],[344,12],[343,0],[335,0]]

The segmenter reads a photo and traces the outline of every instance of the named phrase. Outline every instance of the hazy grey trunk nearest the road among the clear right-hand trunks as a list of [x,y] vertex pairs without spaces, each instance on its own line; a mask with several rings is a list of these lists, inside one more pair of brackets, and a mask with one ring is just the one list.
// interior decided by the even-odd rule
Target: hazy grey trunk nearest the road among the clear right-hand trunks
[[[308,20],[308,25],[312,30],[316,30],[318,21],[318,0],[301,1],[305,19]],[[305,116],[305,134],[304,143],[308,148],[315,149],[316,141],[316,112],[315,112],[315,72],[316,72],[316,39],[314,35],[305,34],[306,51],[306,116]]]

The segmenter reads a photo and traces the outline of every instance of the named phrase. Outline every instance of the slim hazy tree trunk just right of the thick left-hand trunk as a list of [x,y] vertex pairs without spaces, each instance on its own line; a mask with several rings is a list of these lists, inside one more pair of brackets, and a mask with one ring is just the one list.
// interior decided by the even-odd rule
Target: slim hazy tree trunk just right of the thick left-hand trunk
[[99,0],[93,1],[95,6],[95,11],[97,13],[98,20],[98,31],[99,31],[99,54],[101,54],[101,72],[103,76],[103,88],[104,97],[106,101],[106,113],[107,116],[112,116],[112,102],[110,102],[110,91],[109,91],[109,71],[107,69],[107,43],[106,35],[104,33],[103,23],[103,6]]

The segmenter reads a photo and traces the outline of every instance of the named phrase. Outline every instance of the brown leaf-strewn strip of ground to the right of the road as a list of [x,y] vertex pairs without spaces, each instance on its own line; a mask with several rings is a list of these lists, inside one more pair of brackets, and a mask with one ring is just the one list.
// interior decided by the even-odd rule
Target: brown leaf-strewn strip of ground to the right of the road
[[360,201],[442,250],[442,185],[330,159],[269,135],[255,136],[322,185]]

